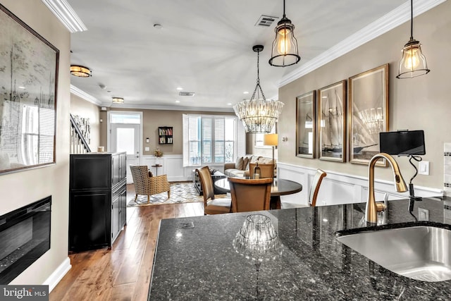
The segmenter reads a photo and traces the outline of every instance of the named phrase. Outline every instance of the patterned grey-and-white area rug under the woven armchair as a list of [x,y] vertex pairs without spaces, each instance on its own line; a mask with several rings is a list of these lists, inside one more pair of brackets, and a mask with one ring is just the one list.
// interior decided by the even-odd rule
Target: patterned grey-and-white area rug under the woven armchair
[[194,183],[173,183],[171,184],[171,197],[168,198],[168,192],[162,192],[158,195],[151,195],[150,202],[147,203],[147,195],[138,195],[129,200],[127,207],[163,205],[163,204],[181,204],[192,202],[204,202],[202,196],[194,188]]

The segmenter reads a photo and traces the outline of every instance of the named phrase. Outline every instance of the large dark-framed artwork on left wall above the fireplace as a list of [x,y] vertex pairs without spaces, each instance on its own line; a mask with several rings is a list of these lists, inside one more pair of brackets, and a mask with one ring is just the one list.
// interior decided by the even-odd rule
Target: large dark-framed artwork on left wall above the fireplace
[[0,4],[0,173],[55,163],[59,51]]

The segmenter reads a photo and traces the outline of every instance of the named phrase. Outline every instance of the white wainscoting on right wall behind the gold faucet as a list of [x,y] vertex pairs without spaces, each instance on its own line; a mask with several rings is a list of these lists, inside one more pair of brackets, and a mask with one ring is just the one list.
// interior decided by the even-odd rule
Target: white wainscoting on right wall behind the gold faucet
[[[302,192],[299,192],[296,195],[280,197],[282,207],[307,206],[307,195],[310,190],[311,181],[316,173],[316,168],[307,168],[293,164],[285,164],[283,162],[278,162],[277,166],[278,177],[295,180],[297,183],[302,184]],[[326,171],[326,173],[327,176],[323,179],[318,199],[316,199],[317,206],[366,202],[368,197],[367,178],[345,173],[336,173],[333,171]],[[376,179],[374,181],[374,188],[374,195],[378,201],[383,201],[385,198],[392,200],[409,197],[408,191],[402,193],[397,192],[395,190],[395,185],[391,181]],[[443,196],[443,190],[421,186],[415,186],[414,188],[415,195],[418,197]]]

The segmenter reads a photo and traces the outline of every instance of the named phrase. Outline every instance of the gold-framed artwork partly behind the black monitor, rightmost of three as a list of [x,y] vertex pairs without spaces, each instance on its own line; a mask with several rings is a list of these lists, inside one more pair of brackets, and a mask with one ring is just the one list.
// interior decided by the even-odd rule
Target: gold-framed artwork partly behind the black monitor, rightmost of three
[[[369,164],[379,152],[379,133],[388,130],[388,63],[349,79],[349,159]],[[376,165],[387,166],[385,160]]]

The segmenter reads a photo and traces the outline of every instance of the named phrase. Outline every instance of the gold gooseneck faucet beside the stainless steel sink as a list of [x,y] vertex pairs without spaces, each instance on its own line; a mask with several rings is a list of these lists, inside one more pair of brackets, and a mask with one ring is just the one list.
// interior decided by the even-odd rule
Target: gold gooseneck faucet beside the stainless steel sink
[[397,162],[385,152],[381,152],[379,154],[375,154],[373,158],[369,161],[368,166],[368,199],[366,200],[366,209],[365,209],[365,219],[369,223],[377,223],[378,221],[378,211],[383,211],[385,209],[385,205],[382,203],[376,203],[374,198],[374,166],[376,166],[376,162],[379,159],[387,159],[388,163],[392,167],[393,176],[395,178],[395,188],[397,192],[406,192],[407,186],[404,182],[404,179],[401,176],[400,167],[397,165]]

